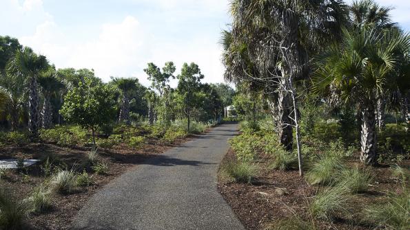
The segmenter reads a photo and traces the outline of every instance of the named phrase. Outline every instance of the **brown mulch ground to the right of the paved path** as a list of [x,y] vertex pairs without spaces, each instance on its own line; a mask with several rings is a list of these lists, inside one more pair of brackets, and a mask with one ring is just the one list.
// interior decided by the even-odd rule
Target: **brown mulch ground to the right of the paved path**
[[[229,150],[223,163],[218,178],[218,190],[232,207],[234,213],[246,229],[266,229],[275,222],[298,216],[309,220],[307,210],[309,201],[313,198],[319,187],[309,185],[298,171],[268,171],[265,166],[269,159],[259,159],[256,163],[260,168],[256,179],[252,183],[234,183],[223,176],[223,165],[236,161],[236,156]],[[404,167],[409,167],[410,161],[403,162]],[[407,166],[406,166],[407,165]],[[362,207],[382,201],[389,192],[400,192],[401,185],[391,179],[389,167],[374,168],[375,180],[369,191],[358,194],[351,199],[351,213],[360,214]],[[334,220],[334,222],[318,222],[320,229],[373,229],[373,227],[352,223],[349,220]],[[290,229],[289,229],[290,230]]]

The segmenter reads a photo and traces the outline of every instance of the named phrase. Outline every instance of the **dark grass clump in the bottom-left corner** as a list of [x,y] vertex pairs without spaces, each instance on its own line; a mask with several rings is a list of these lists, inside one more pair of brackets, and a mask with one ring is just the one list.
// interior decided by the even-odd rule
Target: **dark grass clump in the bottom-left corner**
[[23,229],[27,210],[25,203],[0,189],[0,229]]

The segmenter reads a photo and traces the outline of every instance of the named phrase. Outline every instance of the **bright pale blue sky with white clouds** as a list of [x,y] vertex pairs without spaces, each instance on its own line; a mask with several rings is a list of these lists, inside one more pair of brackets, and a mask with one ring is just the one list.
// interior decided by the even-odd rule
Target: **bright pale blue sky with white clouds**
[[[389,5],[393,21],[410,31],[410,0]],[[149,85],[148,62],[196,62],[204,82],[223,82],[221,30],[229,24],[229,0],[0,0],[0,35],[48,57],[57,68],[94,69],[136,77]],[[172,82],[175,86],[176,82]]]

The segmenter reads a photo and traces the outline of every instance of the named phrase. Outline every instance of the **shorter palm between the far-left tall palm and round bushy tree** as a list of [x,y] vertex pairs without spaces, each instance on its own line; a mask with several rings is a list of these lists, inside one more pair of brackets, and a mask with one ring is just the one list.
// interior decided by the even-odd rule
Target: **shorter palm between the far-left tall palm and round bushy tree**
[[63,88],[63,83],[57,79],[57,72],[54,69],[41,73],[37,82],[39,82],[44,96],[41,126],[43,128],[50,128],[52,126],[52,105],[50,100],[53,94]]

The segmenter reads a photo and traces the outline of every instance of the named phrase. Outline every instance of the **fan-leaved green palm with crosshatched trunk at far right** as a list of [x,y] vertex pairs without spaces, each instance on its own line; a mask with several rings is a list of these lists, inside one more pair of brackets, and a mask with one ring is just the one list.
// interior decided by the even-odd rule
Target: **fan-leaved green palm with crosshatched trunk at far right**
[[363,163],[376,163],[376,102],[404,77],[398,73],[402,72],[402,62],[409,65],[409,51],[408,34],[365,26],[345,30],[342,45],[333,47],[319,62],[316,91],[334,88],[342,102],[360,108]]

